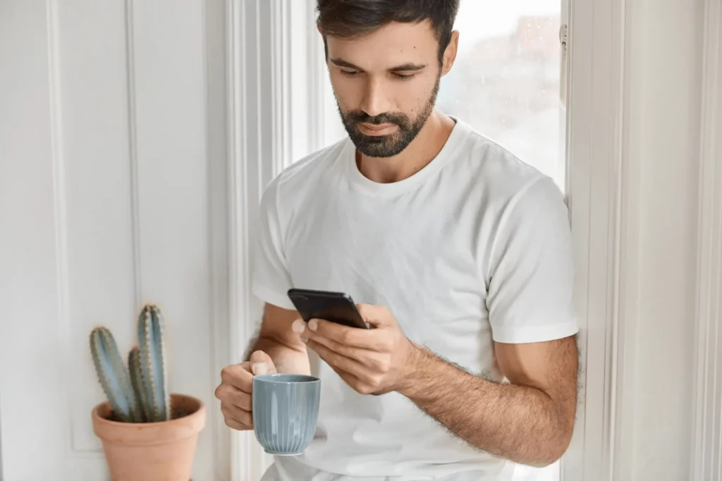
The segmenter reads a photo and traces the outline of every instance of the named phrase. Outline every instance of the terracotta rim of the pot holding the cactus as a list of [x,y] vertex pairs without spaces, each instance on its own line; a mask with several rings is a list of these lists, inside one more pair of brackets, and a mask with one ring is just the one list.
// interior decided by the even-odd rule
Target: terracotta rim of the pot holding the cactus
[[[206,423],[206,406],[201,399],[188,394],[170,393],[171,405],[173,401],[181,401],[183,404],[192,404],[193,412],[183,417],[167,421],[153,421],[150,423],[124,423],[123,421],[109,420],[100,415],[100,412],[110,411],[110,402],[105,401],[96,404],[92,409],[92,424],[96,436],[110,440],[116,438],[116,433],[132,433],[131,437],[136,438],[139,444],[162,442],[162,438],[183,438],[192,436],[204,428]],[[154,441],[155,440],[155,441]]]

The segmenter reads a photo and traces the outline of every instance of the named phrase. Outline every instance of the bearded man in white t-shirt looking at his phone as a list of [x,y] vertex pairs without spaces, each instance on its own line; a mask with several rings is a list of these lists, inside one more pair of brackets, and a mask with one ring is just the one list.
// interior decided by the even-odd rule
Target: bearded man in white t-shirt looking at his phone
[[[222,372],[225,422],[253,429],[251,378],[321,358],[316,437],[264,481],[508,480],[573,431],[578,331],[554,182],[435,109],[458,0],[318,0],[348,139],[261,202],[252,354]],[[349,293],[375,329],[306,325],[290,287]]]

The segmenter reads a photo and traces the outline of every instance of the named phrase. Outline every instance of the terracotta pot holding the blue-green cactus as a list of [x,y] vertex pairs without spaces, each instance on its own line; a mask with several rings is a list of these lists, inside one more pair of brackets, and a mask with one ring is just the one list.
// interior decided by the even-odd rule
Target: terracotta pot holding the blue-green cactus
[[200,399],[170,394],[171,410],[188,415],[161,423],[118,423],[109,420],[109,402],[92,410],[95,435],[103,442],[113,481],[188,481],[198,436],[206,424]]

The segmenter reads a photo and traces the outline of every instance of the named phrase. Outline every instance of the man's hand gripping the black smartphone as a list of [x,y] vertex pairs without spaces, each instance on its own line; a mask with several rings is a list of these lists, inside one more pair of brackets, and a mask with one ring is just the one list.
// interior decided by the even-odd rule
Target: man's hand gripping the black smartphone
[[360,394],[386,394],[404,386],[414,367],[417,347],[406,338],[383,306],[359,304],[371,329],[342,326],[323,319],[299,319],[293,330]]

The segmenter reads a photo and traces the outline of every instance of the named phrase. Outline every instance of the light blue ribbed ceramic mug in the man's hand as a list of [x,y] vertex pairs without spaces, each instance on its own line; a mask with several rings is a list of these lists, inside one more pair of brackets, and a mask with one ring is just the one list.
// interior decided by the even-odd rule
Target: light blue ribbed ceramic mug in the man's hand
[[314,376],[253,376],[253,432],[266,453],[303,453],[316,434],[320,400],[321,379]]

